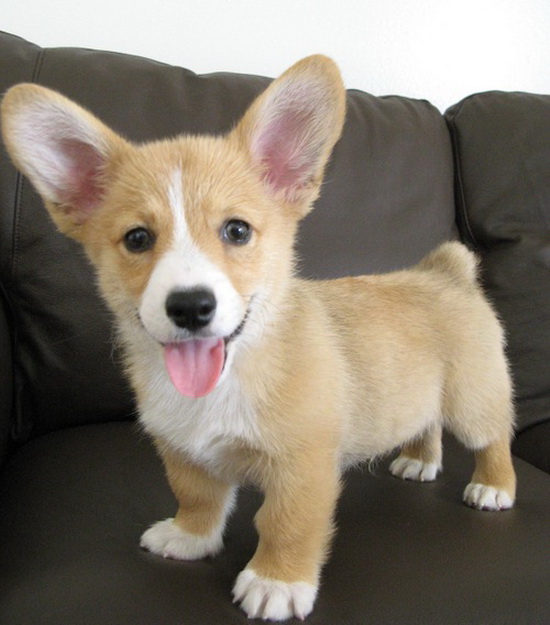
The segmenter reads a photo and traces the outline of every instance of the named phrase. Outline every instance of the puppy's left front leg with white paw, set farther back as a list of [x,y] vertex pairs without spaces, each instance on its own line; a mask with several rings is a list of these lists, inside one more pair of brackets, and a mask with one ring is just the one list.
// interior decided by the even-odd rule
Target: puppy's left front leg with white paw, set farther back
[[175,518],[152,525],[142,535],[140,545],[175,560],[215,555],[223,546],[223,530],[233,507],[235,488],[180,454],[160,445],[159,450],[179,508]]

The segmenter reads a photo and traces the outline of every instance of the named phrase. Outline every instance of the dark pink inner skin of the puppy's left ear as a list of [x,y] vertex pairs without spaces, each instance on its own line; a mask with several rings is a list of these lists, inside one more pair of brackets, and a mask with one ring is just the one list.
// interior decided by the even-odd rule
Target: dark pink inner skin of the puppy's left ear
[[59,144],[64,175],[58,187],[60,203],[82,224],[103,197],[104,157],[90,144],[64,139]]

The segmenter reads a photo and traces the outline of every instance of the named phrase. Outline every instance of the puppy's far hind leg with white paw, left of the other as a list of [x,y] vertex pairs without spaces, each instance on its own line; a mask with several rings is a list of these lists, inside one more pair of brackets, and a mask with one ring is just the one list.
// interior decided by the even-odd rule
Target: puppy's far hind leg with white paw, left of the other
[[416,482],[431,482],[441,470],[441,426],[433,425],[419,438],[401,448],[391,463],[390,471],[396,477]]

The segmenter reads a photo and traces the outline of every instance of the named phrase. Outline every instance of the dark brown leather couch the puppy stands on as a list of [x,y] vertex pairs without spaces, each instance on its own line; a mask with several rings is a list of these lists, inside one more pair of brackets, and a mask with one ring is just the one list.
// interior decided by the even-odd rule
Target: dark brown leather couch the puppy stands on
[[[224,132],[268,84],[0,34],[0,92],[23,81],[135,141]],[[550,623],[549,171],[548,95],[482,93],[442,115],[349,92],[344,136],[301,228],[300,272],[384,272],[452,238],[480,254],[516,385],[518,499],[501,513],[464,506],[472,458],[451,439],[434,483],[393,478],[388,460],[350,471],[308,623]],[[175,501],[91,269],[3,149],[0,287],[0,623],[246,623],[230,593],[255,548],[261,495],[240,492],[216,558],[139,548]]]

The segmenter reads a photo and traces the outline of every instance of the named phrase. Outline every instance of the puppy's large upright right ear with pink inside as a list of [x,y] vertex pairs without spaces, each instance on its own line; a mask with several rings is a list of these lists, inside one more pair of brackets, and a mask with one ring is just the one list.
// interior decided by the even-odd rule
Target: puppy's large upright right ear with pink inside
[[235,132],[260,168],[270,193],[307,213],[340,137],[345,89],[329,58],[310,56],[275,80]]

